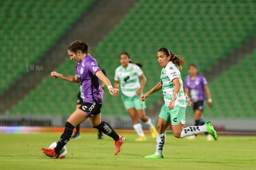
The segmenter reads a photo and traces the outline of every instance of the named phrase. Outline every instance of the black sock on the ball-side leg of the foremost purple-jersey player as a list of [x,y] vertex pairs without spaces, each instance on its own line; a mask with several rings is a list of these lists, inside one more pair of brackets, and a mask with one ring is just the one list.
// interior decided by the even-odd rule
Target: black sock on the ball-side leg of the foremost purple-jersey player
[[59,154],[59,151],[69,142],[74,128],[74,125],[70,124],[70,122],[66,122],[64,132],[61,138],[59,138],[56,148],[54,148],[56,154]]

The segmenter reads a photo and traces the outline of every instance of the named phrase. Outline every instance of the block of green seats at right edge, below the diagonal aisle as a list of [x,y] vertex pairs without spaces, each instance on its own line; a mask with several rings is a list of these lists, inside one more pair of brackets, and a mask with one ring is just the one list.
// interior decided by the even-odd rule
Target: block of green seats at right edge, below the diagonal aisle
[[212,109],[206,107],[207,117],[255,118],[256,51],[238,62],[210,83],[215,99]]

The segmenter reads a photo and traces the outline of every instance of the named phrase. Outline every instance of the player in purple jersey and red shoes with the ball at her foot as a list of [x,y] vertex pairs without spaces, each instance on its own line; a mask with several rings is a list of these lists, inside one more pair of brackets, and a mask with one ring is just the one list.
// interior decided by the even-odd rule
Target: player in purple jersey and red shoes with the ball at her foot
[[108,87],[111,95],[117,95],[119,89],[113,88],[109,79],[103,74],[100,67],[98,67],[95,58],[88,55],[88,43],[74,41],[70,43],[67,53],[70,59],[77,62],[75,75],[51,72],[51,77],[80,83],[83,103],[79,108],[75,109],[74,113],[67,119],[64,132],[59,138],[56,148],[41,148],[41,151],[43,151],[46,156],[58,158],[59,151],[69,142],[75,126],[89,118],[93,127],[100,129],[101,132],[114,139],[114,145],[116,147],[114,155],[117,155],[126,138],[122,136],[119,137],[108,123],[101,120],[100,109],[103,104],[103,90],[100,85],[100,80]]

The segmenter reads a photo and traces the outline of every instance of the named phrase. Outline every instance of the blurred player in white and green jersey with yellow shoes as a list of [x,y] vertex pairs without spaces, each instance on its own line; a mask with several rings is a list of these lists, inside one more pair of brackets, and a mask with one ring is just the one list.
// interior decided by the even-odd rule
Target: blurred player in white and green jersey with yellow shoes
[[[150,129],[151,136],[156,138],[155,125],[152,124],[150,117],[145,114],[145,102],[140,101],[140,96],[142,95],[142,91],[146,83],[146,77],[140,69],[142,64],[132,63],[128,53],[121,53],[119,60],[121,62],[121,66],[117,67],[115,72],[114,88],[119,88],[120,84],[124,107],[130,114],[134,129],[139,135],[139,138],[135,140],[139,142],[147,140],[138,116]],[[141,79],[141,81],[139,79]]]

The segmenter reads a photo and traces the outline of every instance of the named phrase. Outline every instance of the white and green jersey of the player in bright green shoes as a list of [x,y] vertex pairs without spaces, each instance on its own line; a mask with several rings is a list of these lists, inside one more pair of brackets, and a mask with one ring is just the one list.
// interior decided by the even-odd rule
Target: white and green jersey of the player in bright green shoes
[[161,82],[162,82],[162,90],[163,90],[163,96],[164,96],[164,104],[169,106],[171,103],[171,100],[173,99],[173,90],[174,90],[174,84],[173,79],[178,78],[179,82],[181,83],[181,89],[179,90],[179,93],[177,95],[177,99],[174,103],[174,106],[181,106],[186,107],[186,97],[183,90],[183,82],[181,79],[181,72],[173,62],[169,62],[165,68],[161,70]]

